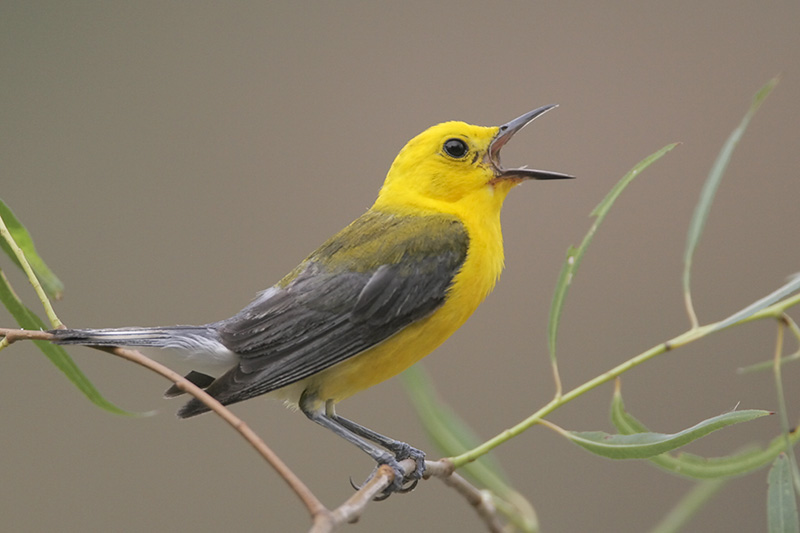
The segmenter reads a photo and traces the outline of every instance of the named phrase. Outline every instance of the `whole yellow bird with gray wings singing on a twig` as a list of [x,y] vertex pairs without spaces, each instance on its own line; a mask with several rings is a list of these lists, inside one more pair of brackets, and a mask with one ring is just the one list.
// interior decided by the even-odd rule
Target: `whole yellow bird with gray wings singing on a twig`
[[[445,122],[400,151],[375,204],[235,316],[203,326],[63,329],[60,344],[172,348],[219,377],[187,378],[223,404],[271,393],[396,473],[425,454],[338,416],[334,405],[413,365],[452,335],[503,269],[500,208],[527,179],[572,176],[504,168],[500,149],[548,105],[500,127]],[[181,391],[173,386],[166,396]],[[207,411],[197,399],[178,416]],[[404,476],[398,461],[412,458]]]

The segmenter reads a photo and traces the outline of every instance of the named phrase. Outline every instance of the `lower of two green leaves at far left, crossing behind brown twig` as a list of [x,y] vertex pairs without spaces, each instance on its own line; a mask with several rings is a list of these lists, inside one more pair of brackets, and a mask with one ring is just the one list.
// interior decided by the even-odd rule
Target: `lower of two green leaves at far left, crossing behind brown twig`
[[[48,329],[42,319],[36,316],[33,311],[28,309],[25,304],[23,304],[19,298],[17,298],[17,295],[14,294],[14,291],[8,284],[5,274],[3,274],[1,270],[0,302],[5,305],[8,311],[11,313],[11,316],[14,317],[14,320],[17,321],[17,324],[19,324],[21,328],[31,330]],[[75,364],[75,361],[72,360],[69,354],[61,346],[46,341],[33,341],[33,343],[92,403],[114,414],[142,416],[140,413],[131,413],[129,411],[125,411],[124,409],[117,407],[113,403],[103,398],[103,396],[94,387],[94,385],[92,385],[91,381],[89,381],[86,375],[81,372],[80,368],[78,368],[78,365]]]

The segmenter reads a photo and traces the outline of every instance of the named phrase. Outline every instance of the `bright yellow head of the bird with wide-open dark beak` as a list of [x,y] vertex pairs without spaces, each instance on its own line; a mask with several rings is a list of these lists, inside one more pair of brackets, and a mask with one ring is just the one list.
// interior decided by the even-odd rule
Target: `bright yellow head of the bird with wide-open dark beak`
[[553,107],[540,107],[500,127],[445,122],[428,128],[397,155],[376,206],[447,210],[448,204],[477,202],[499,211],[508,191],[523,180],[571,178],[557,172],[506,169],[500,164],[503,145]]

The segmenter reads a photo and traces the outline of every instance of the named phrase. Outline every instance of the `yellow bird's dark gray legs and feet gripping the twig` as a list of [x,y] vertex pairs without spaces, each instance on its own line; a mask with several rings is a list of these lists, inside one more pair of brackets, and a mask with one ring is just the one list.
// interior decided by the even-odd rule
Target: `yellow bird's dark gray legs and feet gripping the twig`
[[[300,410],[303,412],[303,414],[305,414],[313,422],[316,422],[320,426],[331,430],[346,441],[356,445],[367,455],[372,457],[372,459],[378,463],[378,465],[388,465],[392,468],[392,470],[394,470],[394,481],[384,491],[384,498],[388,497],[394,492],[408,492],[411,490],[411,488],[413,488],[413,486],[408,489],[403,488],[403,485],[406,481],[405,472],[400,467],[398,461],[401,461],[407,457],[411,457],[417,462],[416,470],[411,476],[409,476],[410,479],[415,481],[414,484],[416,485],[416,481],[422,476],[422,471],[425,468],[425,454],[423,452],[412,448],[408,444],[394,441],[363,426],[355,424],[350,420],[337,416],[333,412],[332,402],[327,402],[325,408],[321,409],[318,405],[318,402],[315,400],[315,398],[303,394],[299,402]],[[354,430],[353,428],[357,429]],[[363,433],[363,435],[359,432]],[[375,444],[369,441],[384,446],[386,450],[392,451],[395,455],[388,453],[386,450],[375,446]],[[419,472],[419,475],[417,475],[417,472]]]

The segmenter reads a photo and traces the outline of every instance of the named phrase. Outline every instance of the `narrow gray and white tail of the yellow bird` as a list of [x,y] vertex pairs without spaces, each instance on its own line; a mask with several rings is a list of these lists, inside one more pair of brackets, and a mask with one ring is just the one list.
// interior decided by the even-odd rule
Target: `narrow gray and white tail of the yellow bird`
[[189,339],[216,341],[219,337],[211,326],[172,326],[159,328],[54,329],[56,344],[84,346],[152,346],[155,348],[188,348]]

